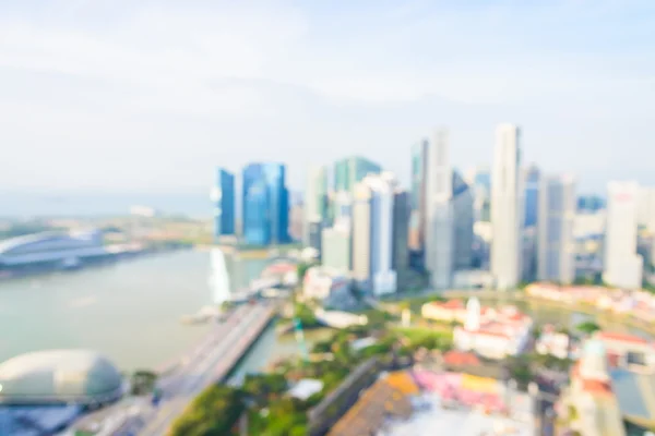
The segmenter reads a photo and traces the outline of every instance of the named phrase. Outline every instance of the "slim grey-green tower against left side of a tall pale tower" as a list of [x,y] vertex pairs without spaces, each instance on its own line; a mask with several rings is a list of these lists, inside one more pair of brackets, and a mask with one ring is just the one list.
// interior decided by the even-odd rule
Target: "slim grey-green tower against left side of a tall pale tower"
[[421,140],[412,148],[412,216],[408,243],[414,252],[421,252],[425,247],[428,145],[428,140]]

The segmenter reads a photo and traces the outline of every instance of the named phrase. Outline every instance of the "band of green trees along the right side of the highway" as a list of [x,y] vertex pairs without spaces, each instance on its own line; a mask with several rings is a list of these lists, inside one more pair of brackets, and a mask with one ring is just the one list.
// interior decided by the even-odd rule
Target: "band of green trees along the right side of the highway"
[[[309,317],[309,307],[300,304],[297,310],[300,317]],[[376,327],[369,324],[338,330],[329,340],[314,344],[312,354],[329,354],[330,359],[311,363],[287,360],[269,374],[246,376],[239,389],[210,387],[175,423],[170,435],[233,435],[241,416],[248,419],[250,435],[306,435],[308,411],[336,389],[366,359],[379,356],[391,361],[392,355],[410,355],[421,347],[440,350],[451,347],[451,332],[429,328],[389,328],[382,320],[390,315],[384,312],[370,312],[368,315],[379,317],[380,323],[374,324]],[[365,337],[374,337],[377,341],[355,351],[350,343]],[[289,387],[302,378],[321,380],[323,389],[307,400],[287,396]]]

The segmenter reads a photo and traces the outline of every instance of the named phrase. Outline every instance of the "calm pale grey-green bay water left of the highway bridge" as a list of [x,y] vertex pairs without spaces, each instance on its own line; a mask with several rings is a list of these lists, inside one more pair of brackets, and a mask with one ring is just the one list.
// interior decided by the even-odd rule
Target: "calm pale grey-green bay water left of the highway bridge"
[[[246,286],[265,263],[226,258],[228,286]],[[180,317],[216,301],[212,265],[210,253],[184,251],[2,281],[0,362],[35,350],[86,348],[121,370],[158,367],[205,334],[206,325],[183,325]]]

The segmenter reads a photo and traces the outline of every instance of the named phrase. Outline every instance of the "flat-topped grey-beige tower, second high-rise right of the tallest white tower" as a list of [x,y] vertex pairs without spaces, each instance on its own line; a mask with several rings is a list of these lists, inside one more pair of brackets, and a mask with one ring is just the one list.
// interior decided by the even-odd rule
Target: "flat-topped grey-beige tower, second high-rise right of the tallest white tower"
[[539,183],[537,277],[570,284],[575,280],[575,181],[572,177],[545,177]]

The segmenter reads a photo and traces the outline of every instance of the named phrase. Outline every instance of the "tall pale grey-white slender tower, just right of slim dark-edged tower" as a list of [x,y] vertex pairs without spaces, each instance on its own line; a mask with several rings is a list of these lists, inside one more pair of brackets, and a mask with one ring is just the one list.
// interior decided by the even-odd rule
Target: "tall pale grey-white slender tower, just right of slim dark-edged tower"
[[426,186],[426,269],[436,289],[446,289],[453,274],[453,170],[450,165],[449,135],[434,133],[427,153]]

